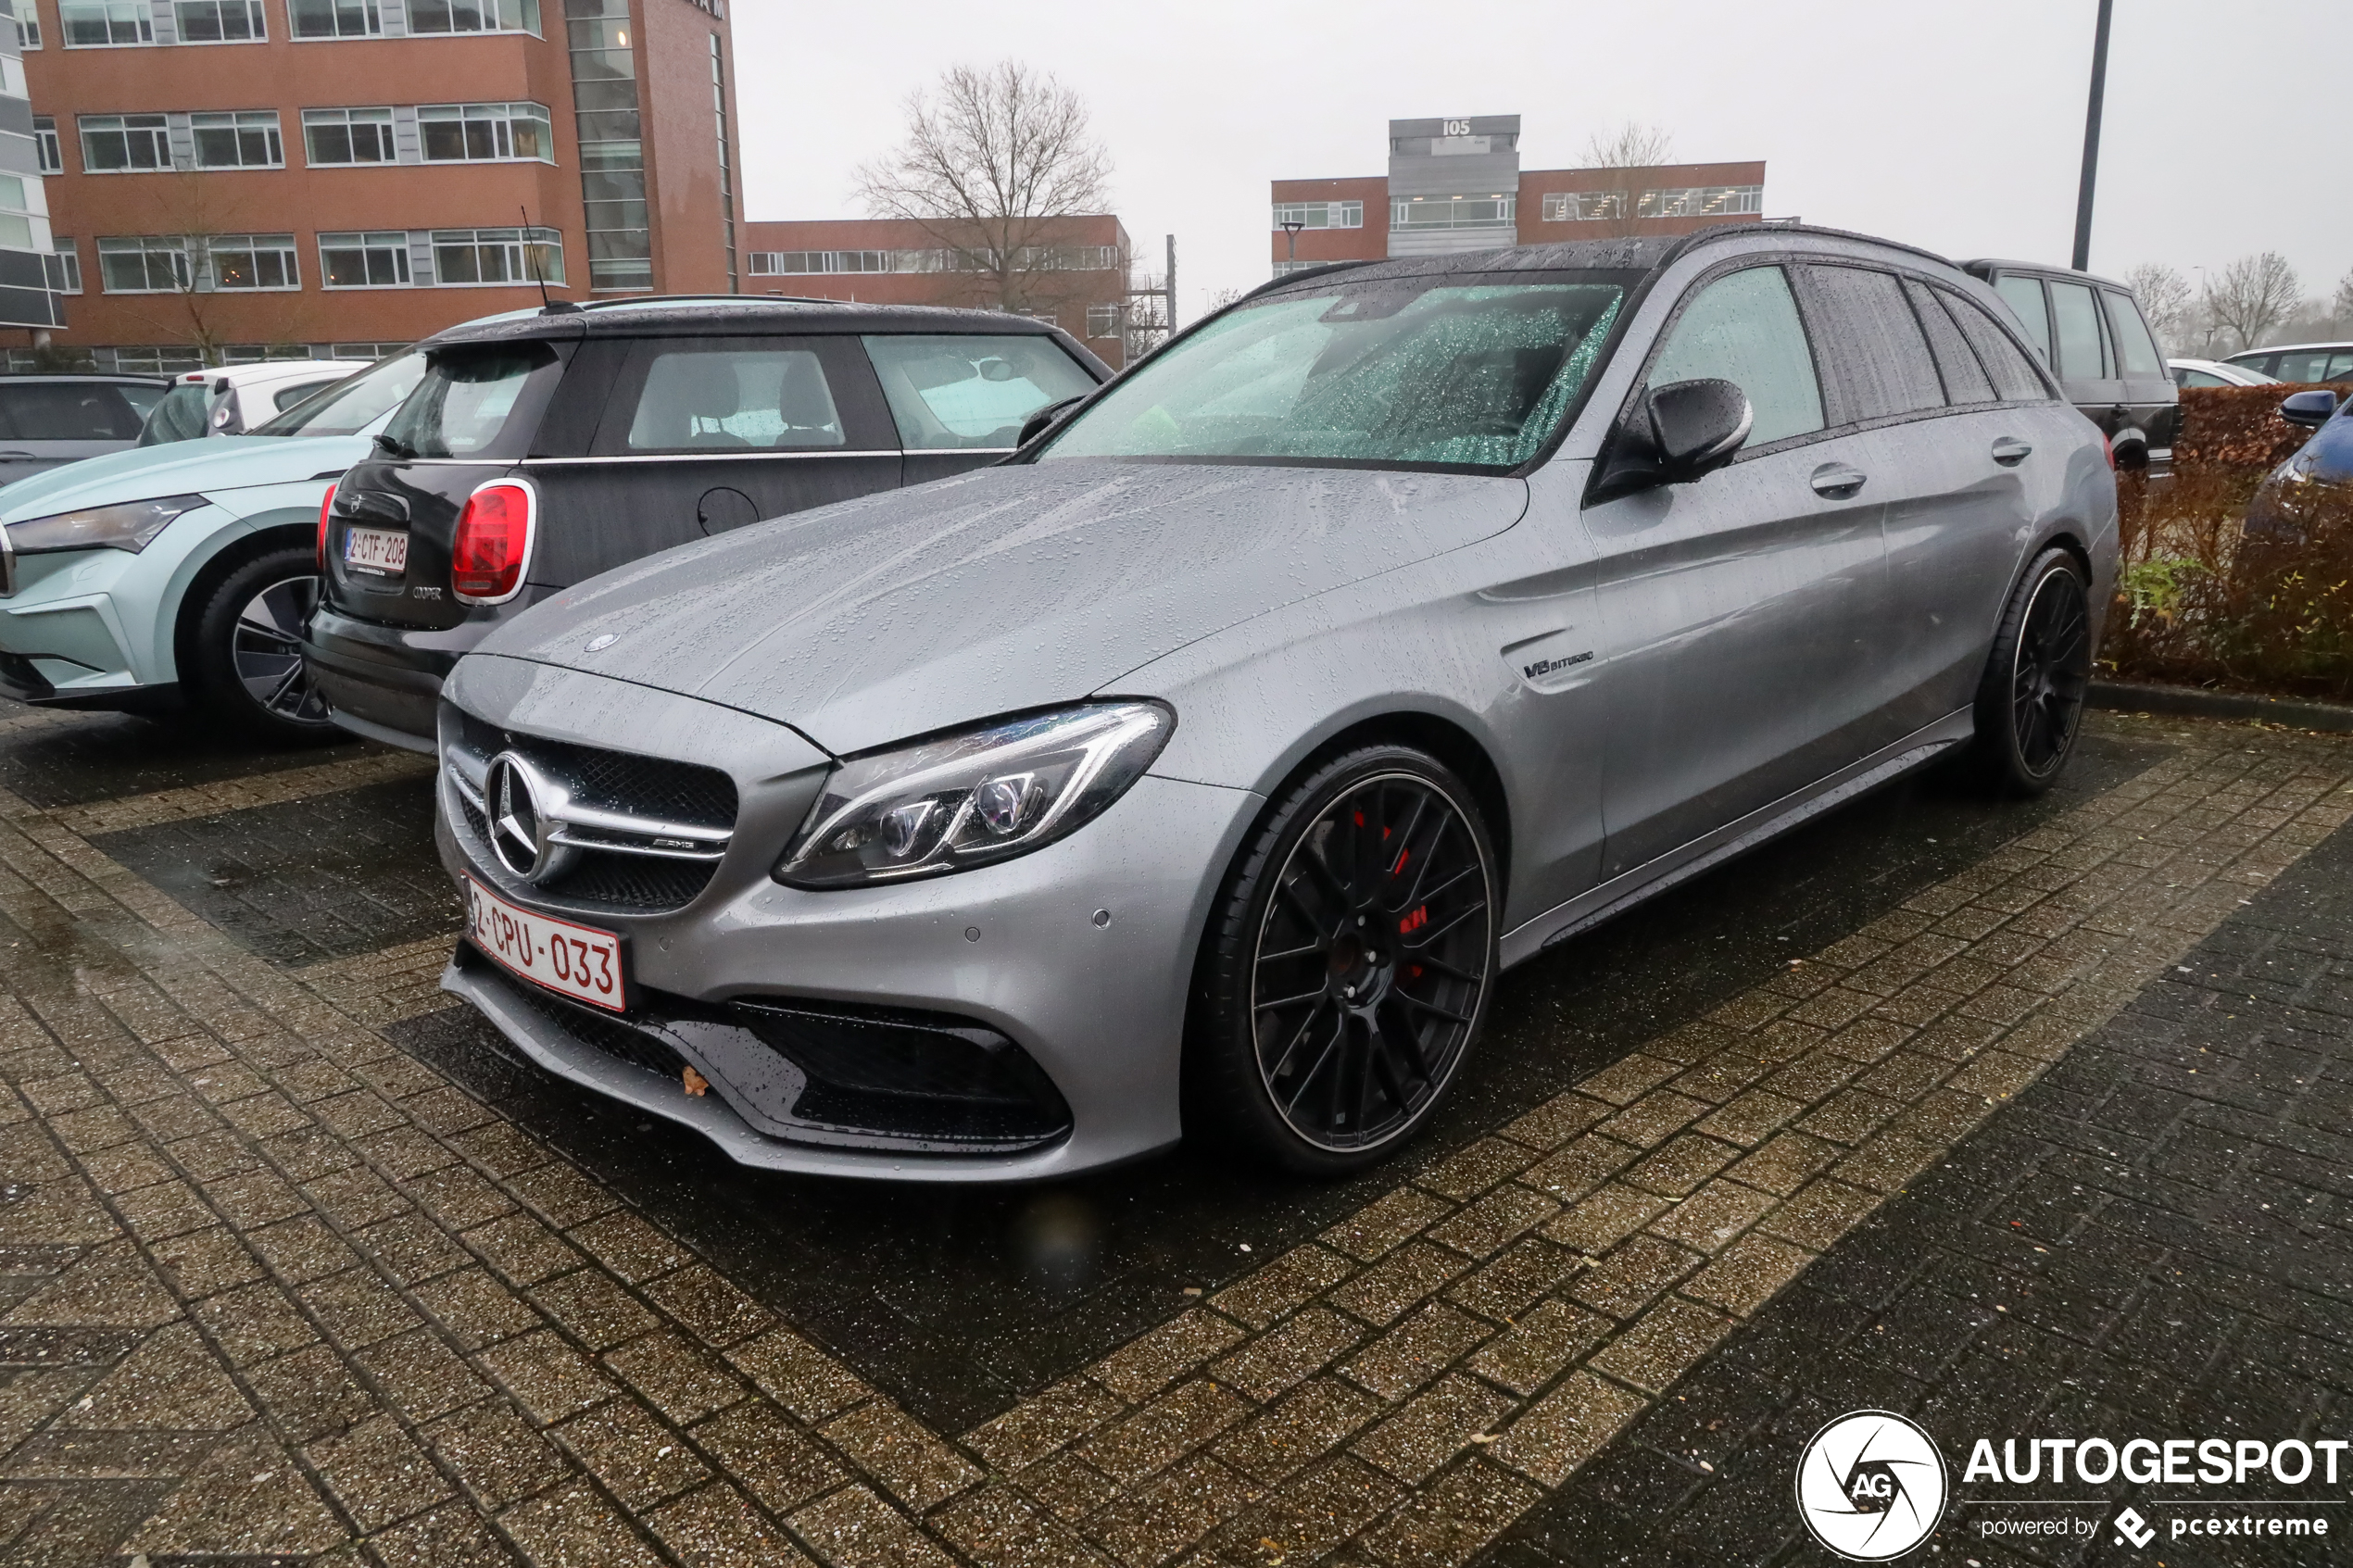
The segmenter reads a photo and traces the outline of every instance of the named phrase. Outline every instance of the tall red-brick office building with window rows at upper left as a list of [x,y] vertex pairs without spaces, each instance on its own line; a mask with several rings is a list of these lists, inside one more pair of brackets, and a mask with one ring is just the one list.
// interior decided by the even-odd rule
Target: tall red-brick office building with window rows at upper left
[[16,14],[52,336],[104,369],[376,353],[536,303],[536,277],[565,299],[736,287],[725,0]]

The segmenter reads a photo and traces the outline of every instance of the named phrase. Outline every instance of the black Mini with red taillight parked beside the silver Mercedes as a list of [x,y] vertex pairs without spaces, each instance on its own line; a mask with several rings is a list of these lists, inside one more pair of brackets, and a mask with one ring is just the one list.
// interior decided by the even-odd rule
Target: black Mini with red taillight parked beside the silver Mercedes
[[320,510],[304,658],[336,724],[433,750],[492,625],[642,555],[979,468],[1111,369],[1049,322],[831,301],[555,306],[424,343]]

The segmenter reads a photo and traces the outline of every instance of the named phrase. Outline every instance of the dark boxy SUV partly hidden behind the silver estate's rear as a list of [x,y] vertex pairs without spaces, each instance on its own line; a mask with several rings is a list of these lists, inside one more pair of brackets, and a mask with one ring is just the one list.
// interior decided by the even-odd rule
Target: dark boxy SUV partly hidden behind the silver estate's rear
[[2002,296],[2066,400],[2108,437],[2118,468],[2169,468],[2179,388],[2132,289],[2038,261],[1962,261]]

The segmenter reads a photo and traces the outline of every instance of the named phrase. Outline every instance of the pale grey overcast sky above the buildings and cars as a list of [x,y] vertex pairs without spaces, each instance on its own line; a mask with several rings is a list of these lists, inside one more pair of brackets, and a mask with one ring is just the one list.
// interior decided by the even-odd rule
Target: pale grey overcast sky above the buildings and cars
[[[1136,254],[1176,235],[1181,315],[1268,275],[1271,179],[1384,174],[1386,122],[1520,115],[1520,167],[1624,120],[1680,162],[1762,158],[1765,212],[1948,256],[2066,261],[2094,0],[736,0],[753,219],[859,216],[852,172],[955,63],[1085,96]],[[2353,270],[2353,5],[2118,0],[2092,270],[2278,249]]]

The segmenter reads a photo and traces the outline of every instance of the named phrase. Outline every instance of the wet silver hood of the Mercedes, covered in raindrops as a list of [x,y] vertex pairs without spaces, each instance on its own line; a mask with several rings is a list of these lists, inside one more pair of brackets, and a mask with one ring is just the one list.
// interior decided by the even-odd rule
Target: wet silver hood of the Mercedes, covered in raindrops
[[845,755],[1082,698],[1238,621],[1499,534],[1525,505],[1525,482],[1473,475],[984,468],[607,571],[480,651],[725,703]]

